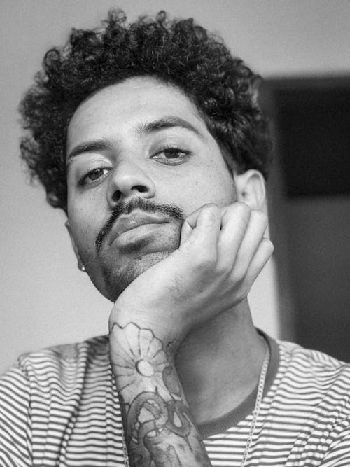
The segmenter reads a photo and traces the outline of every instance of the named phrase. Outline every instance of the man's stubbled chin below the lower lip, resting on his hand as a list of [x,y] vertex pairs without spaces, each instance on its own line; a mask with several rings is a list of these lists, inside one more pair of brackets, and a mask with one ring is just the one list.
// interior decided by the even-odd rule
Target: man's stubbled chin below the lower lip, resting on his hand
[[97,284],[94,285],[108,300],[116,302],[119,295],[125,291],[125,288],[134,279],[153,265],[159,263],[162,259],[167,258],[171,253],[172,251],[157,251],[133,258],[123,267],[118,267],[118,269],[113,268],[111,270],[111,267],[104,267],[102,272],[104,287],[99,287]]

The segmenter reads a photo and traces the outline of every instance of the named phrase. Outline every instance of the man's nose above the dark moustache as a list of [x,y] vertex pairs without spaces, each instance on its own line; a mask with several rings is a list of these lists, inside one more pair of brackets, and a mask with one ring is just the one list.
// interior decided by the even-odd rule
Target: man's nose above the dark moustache
[[151,198],[155,195],[155,186],[143,168],[130,161],[120,161],[113,169],[107,200],[113,207],[118,202],[126,202],[132,197]]

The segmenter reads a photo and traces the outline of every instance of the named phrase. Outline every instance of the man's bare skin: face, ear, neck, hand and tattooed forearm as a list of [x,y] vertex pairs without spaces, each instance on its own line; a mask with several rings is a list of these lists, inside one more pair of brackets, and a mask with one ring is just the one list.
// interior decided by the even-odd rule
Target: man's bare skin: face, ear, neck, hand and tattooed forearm
[[[251,209],[265,195],[262,177],[233,177],[195,106],[152,78],[81,104],[67,154],[78,261],[116,300],[111,364],[130,463],[209,466],[196,422],[232,410],[255,386],[263,358],[246,302],[272,254],[266,217]],[[117,235],[123,216],[151,205],[162,223]]]

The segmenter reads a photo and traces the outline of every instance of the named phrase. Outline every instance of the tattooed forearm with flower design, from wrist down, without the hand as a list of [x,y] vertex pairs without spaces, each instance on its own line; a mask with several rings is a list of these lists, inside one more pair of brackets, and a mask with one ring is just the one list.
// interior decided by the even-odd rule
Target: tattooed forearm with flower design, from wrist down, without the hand
[[116,321],[110,340],[130,466],[210,466],[169,342]]

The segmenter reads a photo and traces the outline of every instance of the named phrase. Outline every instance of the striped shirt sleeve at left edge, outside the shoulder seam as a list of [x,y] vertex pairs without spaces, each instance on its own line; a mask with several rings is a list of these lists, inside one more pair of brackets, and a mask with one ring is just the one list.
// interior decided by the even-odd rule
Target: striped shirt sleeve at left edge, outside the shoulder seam
[[31,466],[29,382],[20,368],[0,377],[0,467]]

